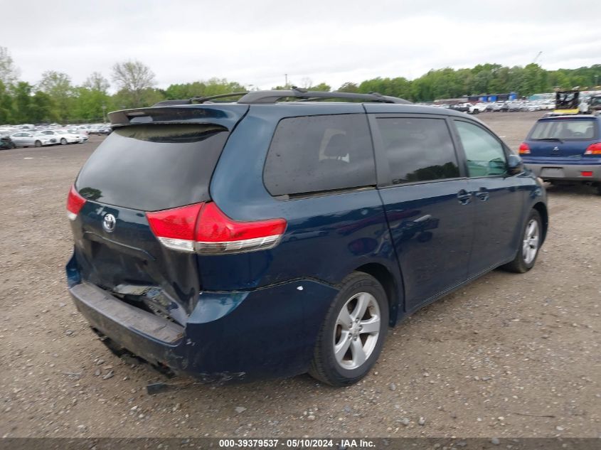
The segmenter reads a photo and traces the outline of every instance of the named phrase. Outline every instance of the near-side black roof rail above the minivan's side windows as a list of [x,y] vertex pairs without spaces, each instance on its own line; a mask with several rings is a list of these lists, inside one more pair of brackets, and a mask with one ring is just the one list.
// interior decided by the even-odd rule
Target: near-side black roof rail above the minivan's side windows
[[388,95],[381,95],[378,94],[378,92],[371,92],[369,94],[356,94],[354,92],[308,91],[294,87],[291,90],[261,90],[248,92],[248,94],[238,100],[238,103],[244,103],[246,105],[270,104],[286,97],[303,99],[302,101],[340,98],[349,100],[364,100],[366,102],[403,103],[405,105],[411,103],[408,100],[398,97],[390,97]]

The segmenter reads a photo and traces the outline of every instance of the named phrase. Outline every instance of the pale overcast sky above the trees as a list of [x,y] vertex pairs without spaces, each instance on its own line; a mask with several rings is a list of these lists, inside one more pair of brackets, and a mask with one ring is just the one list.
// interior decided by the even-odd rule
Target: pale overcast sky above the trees
[[[270,88],[309,78],[403,76],[477,63],[546,69],[601,63],[601,0],[0,0],[0,45],[21,79],[75,84],[117,61],[150,66],[159,87],[209,77]],[[600,74],[601,75],[601,74]]]

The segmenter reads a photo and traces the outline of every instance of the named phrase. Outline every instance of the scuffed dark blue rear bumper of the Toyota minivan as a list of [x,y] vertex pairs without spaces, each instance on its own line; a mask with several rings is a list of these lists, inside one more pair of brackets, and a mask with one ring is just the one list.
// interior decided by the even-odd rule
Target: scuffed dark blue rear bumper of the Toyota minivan
[[179,326],[87,282],[69,291],[90,326],[113,343],[153,365],[207,382],[307,372],[317,332],[337,293],[312,280],[202,292],[188,322]]

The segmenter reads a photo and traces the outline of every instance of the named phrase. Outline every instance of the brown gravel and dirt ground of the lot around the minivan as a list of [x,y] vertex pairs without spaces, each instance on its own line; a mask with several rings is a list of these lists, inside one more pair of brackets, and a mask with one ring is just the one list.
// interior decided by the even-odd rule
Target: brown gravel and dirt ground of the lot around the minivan
[[[517,148],[541,115],[479,118]],[[109,353],[65,287],[65,198],[100,141],[0,151],[0,436],[601,436],[593,188],[549,188],[536,267],[400,323],[358,385],[303,375],[149,396],[161,375]]]

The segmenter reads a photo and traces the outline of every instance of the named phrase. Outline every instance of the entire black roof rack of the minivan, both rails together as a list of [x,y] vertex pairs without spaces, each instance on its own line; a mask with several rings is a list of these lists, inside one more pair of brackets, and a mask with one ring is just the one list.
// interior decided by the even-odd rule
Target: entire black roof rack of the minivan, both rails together
[[349,99],[363,100],[364,102],[379,102],[379,103],[403,103],[410,105],[408,100],[381,95],[378,92],[370,92],[369,94],[356,94],[354,92],[325,92],[325,91],[309,91],[293,87],[291,90],[257,90],[251,92],[231,92],[230,94],[211,95],[208,97],[192,97],[187,100],[163,100],[153,106],[170,106],[170,105],[192,105],[193,103],[210,102],[218,98],[227,97],[242,97],[238,103],[243,105],[267,105],[277,102],[282,98],[298,98],[301,102],[312,102],[314,100],[323,99]]

